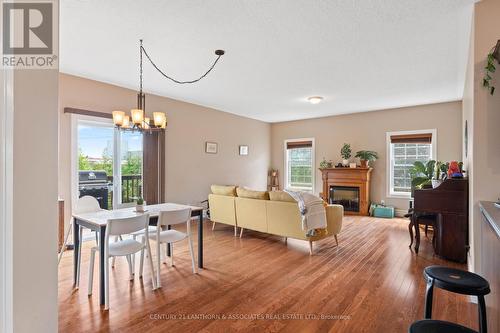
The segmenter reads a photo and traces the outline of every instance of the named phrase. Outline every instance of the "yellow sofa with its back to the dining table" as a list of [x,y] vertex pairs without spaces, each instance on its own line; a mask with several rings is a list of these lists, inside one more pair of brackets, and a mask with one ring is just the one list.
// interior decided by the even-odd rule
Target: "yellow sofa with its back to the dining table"
[[[244,193],[244,195],[257,196],[248,193]],[[283,195],[283,192],[271,195],[271,200],[239,197],[234,196],[234,194],[209,194],[210,219],[214,222],[212,229],[215,228],[216,223],[223,223],[233,225],[235,235],[237,228],[240,227],[240,237],[244,229],[250,229],[282,236],[285,237],[285,240],[289,237],[309,241],[310,254],[313,253],[314,241],[329,236],[334,236],[338,245],[337,235],[342,229],[344,207],[341,205],[326,206],[326,229],[318,230],[313,237],[307,237],[305,231],[302,230],[299,206],[293,199],[290,200],[291,197],[287,197],[289,196],[286,193]]]

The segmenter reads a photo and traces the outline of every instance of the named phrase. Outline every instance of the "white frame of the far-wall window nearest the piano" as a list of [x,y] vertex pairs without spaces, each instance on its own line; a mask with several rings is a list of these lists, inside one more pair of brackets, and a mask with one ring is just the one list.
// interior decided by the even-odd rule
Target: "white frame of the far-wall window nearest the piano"
[[412,130],[412,131],[396,131],[396,132],[387,132],[386,133],[386,151],[387,151],[387,166],[386,166],[386,195],[388,198],[402,198],[402,199],[409,199],[411,198],[411,193],[397,193],[393,192],[393,173],[394,173],[394,163],[393,163],[393,156],[392,156],[392,149],[391,149],[391,136],[393,135],[411,135],[411,134],[426,134],[426,133],[431,133],[432,134],[432,141],[431,141],[431,160],[437,159],[437,130],[435,128],[433,129],[426,129],[426,130]]

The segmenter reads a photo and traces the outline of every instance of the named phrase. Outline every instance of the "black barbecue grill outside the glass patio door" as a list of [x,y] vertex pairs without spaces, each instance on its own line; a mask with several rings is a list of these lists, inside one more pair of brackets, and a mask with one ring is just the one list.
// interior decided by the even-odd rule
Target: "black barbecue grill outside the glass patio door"
[[96,198],[102,209],[108,209],[110,187],[106,171],[78,171],[79,197],[90,195]]

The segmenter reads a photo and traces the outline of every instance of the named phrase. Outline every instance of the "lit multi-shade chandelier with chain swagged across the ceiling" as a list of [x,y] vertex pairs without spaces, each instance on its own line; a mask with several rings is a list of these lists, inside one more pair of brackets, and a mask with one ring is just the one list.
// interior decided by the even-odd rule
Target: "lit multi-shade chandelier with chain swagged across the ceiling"
[[125,114],[125,111],[113,111],[113,123],[120,130],[132,130],[132,131],[147,131],[152,133],[153,131],[163,131],[167,127],[167,115],[164,112],[153,112],[153,118],[146,116],[146,95],[142,92],[142,57],[143,54],[149,60],[151,65],[165,78],[176,84],[191,84],[196,83],[203,79],[210,73],[220,57],[224,55],[224,50],[216,50],[215,55],[217,58],[210,68],[199,78],[189,81],[179,81],[167,74],[165,74],[154,62],[151,57],[146,52],[146,49],[142,46],[142,39],[139,40],[139,92],[137,93],[137,107],[130,110],[130,116]]

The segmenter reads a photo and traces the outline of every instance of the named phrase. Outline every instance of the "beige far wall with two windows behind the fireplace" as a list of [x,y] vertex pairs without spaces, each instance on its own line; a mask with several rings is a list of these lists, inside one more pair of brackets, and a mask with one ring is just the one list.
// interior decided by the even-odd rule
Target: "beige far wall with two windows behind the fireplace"
[[379,160],[374,163],[371,200],[385,200],[386,204],[406,210],[408,200],[388,198],[386,195],[386,132],[435,128],[437,158],[443,161],[460,160],[461,110],[461,102],[450,102],[275,123],[271,127],[272,167],[280,170],[280,181],[283,184],[284,140],[315,138],[315,192],[319,193],[322,181],[317,168],[323,157],[333,160],[335,164],[340,162],[340,148],[344,142],[351,144],[353,153],[358,150],[374,150],[379,153]]

